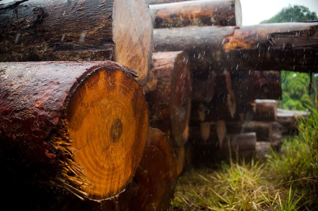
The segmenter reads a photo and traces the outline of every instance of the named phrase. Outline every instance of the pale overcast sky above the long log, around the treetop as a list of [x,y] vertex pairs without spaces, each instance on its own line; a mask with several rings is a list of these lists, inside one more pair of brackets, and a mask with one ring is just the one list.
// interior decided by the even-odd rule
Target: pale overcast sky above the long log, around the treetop
[[[12,0],[2,0],[0,4],[8,2]],[[288,7],[289,4],[304,5],[318,14],[318,0],[240,0],[240,2],[243,25],[259,24],[276,15],[282,8]]]

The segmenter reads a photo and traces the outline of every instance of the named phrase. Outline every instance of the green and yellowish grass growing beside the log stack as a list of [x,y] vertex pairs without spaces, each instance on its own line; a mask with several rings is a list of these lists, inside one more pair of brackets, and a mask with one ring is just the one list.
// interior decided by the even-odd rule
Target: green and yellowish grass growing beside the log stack
[[280,153],[184,173],[170,210],[317,210],[318,110],[311,112]]

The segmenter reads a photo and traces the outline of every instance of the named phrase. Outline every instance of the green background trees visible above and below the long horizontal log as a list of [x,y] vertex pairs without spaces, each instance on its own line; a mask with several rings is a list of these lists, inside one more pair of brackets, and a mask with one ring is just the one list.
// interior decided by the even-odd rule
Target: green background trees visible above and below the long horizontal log
[[[289,5],[283,8],[275,16],[260,23],[283,23],[318,20],[316,12],[311,12],[308,7],[301,5]],[[308,69],[309,71],[309,69]],[[306,110],[313,107],[311,96],[317,90],[318,74],[313,74],[312,90],[309,95],[310,77],[307,73],[281,71],[281,87],[283,91],[283,108],[292,110]]]

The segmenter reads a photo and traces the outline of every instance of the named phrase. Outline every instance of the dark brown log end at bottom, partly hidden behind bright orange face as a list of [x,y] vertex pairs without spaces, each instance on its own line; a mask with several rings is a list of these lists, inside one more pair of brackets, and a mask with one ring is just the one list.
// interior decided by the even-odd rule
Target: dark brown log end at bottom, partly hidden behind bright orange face
[[175,157],[165,134],[149,128],[140,166],[127,190],[119,195],[119,210],[167,210],[177,182]]

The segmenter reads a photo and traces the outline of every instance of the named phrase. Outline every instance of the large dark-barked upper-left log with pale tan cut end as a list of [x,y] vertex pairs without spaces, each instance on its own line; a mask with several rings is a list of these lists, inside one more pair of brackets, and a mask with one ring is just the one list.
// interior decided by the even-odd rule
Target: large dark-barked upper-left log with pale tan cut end
[[[80,24],[79,24],[80,23]],[[143,0],[18,1],[0,6],[0,61],[105,61],[149,76],[153,27]]]

